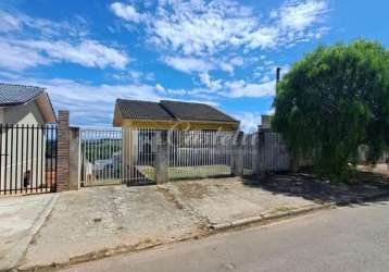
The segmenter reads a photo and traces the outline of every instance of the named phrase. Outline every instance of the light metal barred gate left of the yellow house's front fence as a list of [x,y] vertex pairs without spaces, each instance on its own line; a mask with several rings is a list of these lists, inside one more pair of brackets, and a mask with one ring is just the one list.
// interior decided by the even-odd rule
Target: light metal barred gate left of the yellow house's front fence
[[155,182],[155,131],[80,128],[81,186]]

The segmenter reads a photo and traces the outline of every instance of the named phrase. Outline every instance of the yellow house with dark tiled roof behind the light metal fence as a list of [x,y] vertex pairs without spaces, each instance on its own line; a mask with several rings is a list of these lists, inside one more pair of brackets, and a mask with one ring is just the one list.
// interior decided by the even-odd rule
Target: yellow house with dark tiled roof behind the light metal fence
[[[141,132],[123,129],[123,162],[129,169],[138,163],[153,164],[156,151],[154,129],[236,132],[239,124],[239,121],[205,103],[166,100],[117,99],[113,120],[114,126],[123,128],[151,128]],[[181,151],[185,154],[185,150]]]

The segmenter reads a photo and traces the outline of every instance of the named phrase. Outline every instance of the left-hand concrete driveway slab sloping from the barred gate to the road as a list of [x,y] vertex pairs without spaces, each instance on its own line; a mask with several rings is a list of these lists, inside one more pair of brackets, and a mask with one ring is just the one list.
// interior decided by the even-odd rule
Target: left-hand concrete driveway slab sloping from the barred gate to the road
[[20,268],[101,258],[200,236],[204,223],[156,186],[62,193]]

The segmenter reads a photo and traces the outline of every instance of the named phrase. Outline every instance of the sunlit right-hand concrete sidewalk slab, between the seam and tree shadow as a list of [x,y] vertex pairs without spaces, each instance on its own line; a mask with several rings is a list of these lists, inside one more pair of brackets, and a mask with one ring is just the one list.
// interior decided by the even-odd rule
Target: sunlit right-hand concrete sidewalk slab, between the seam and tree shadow
[[210,224],[266,217],[275,212],[302,207],[317,206],[312,200],[300,197],[274,195],[261,188],[244,184],[239,177],[205,178],[168,183],[164,189],[174,195],[175,200]]

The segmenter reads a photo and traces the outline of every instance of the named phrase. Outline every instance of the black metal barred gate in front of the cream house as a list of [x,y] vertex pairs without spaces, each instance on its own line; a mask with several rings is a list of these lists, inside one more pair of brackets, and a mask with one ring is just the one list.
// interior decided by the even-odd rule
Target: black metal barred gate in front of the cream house
[[0,195],[55,191],[55,125],[0,124]]

